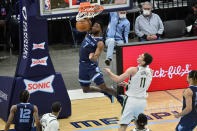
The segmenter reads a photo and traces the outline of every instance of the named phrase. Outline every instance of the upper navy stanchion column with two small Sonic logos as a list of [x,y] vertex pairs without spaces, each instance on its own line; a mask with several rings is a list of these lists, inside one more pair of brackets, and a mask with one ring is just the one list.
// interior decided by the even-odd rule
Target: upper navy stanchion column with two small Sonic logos
[[[16,76],[35,77],[54,74],[48,51],[48,26],[46,19],[38,19],[36,2],[22,1],[21,52]],[[39,72],[39,73],[38,73]]]

